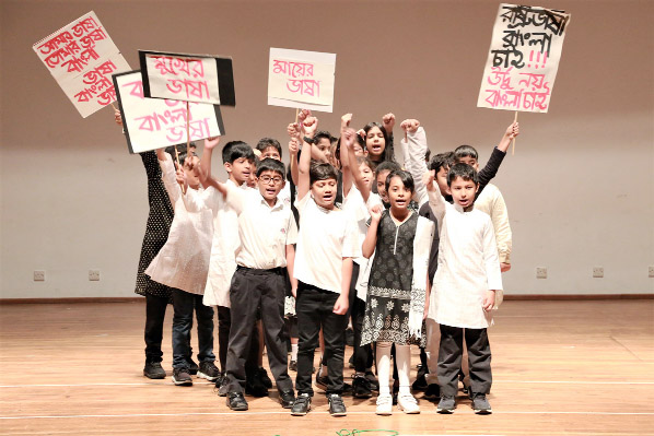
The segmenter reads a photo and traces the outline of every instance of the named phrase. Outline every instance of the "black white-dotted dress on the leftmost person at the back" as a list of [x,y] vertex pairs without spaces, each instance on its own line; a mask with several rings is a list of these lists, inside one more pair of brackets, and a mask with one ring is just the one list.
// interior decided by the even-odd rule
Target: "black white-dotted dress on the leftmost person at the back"
[[141,247],[139,269],[137,272],[137,286],[135,292],[139,295],[154,295],[170,298],[171,288],[156,283],[143,273],[161,247],[168,239],[168,232],[173,223],[174,211],[166,188],[161,179],[161,167],[153,151],[141,153],[141,160],[148,175],[148,202],[150,212],[145,226],[145,236]]

